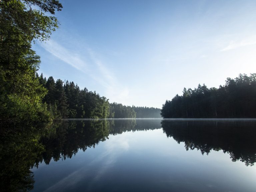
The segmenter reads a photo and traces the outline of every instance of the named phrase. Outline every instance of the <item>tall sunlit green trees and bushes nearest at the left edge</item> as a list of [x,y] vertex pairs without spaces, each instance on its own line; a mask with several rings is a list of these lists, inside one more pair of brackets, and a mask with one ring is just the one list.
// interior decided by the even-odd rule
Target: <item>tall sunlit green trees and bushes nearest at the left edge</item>
[[[32,9],[36,5],[40,10]],[[36,7],[34,6],[34,7]],[[44,41],[58,28],[54,10],[56,0],[0,1],[0,119],[7,123],[49,120],[46,105],[41,104],[47,90],[39,83],[36,71],[40,57],[31,50],[35,39]],[[41,116],[40,116],[41,115]]]

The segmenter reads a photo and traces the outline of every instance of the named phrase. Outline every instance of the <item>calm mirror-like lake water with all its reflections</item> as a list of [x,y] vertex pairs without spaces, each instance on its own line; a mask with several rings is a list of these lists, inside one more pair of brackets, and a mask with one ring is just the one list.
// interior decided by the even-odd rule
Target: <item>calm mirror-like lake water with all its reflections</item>
[[25,141],[1,177],[34,192],[256,191],[254,120],[69,120]]

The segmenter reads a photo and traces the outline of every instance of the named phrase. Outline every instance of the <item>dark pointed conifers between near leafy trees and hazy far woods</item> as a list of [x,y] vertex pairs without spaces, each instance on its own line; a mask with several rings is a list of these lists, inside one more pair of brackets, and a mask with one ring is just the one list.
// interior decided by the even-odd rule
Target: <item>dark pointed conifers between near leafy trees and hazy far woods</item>
[[109,117],[109,102],[106,97],[101,97],[95,91],[86,88],[80,90],[75,83],[64,82],[53,77],[48,80],[37,75],[38,81],[44,86],[48,93],[43,98],[47,103],[51,115],[56,118],[87,118],[105,119]]

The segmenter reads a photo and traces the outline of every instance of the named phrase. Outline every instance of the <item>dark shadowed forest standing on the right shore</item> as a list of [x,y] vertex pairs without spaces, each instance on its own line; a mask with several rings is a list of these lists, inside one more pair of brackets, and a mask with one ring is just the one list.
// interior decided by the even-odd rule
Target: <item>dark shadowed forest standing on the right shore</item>
[[227,78],[219,88],[183,89],[161,109],[163,118],[256,118],[256,73]]

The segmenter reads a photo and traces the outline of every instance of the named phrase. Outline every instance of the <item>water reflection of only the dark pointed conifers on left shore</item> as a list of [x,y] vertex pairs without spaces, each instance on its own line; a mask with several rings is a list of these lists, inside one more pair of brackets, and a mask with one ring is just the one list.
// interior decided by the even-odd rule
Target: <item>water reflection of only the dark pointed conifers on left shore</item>
[[55,134],[41,138],[45,152],[42,160],[49,164],[51,159],[71,158],[78,150],[85,151],[88,147],[95,147],[100,141],[105,141],[109,135],[107,120],[63,121],[54,124]]

